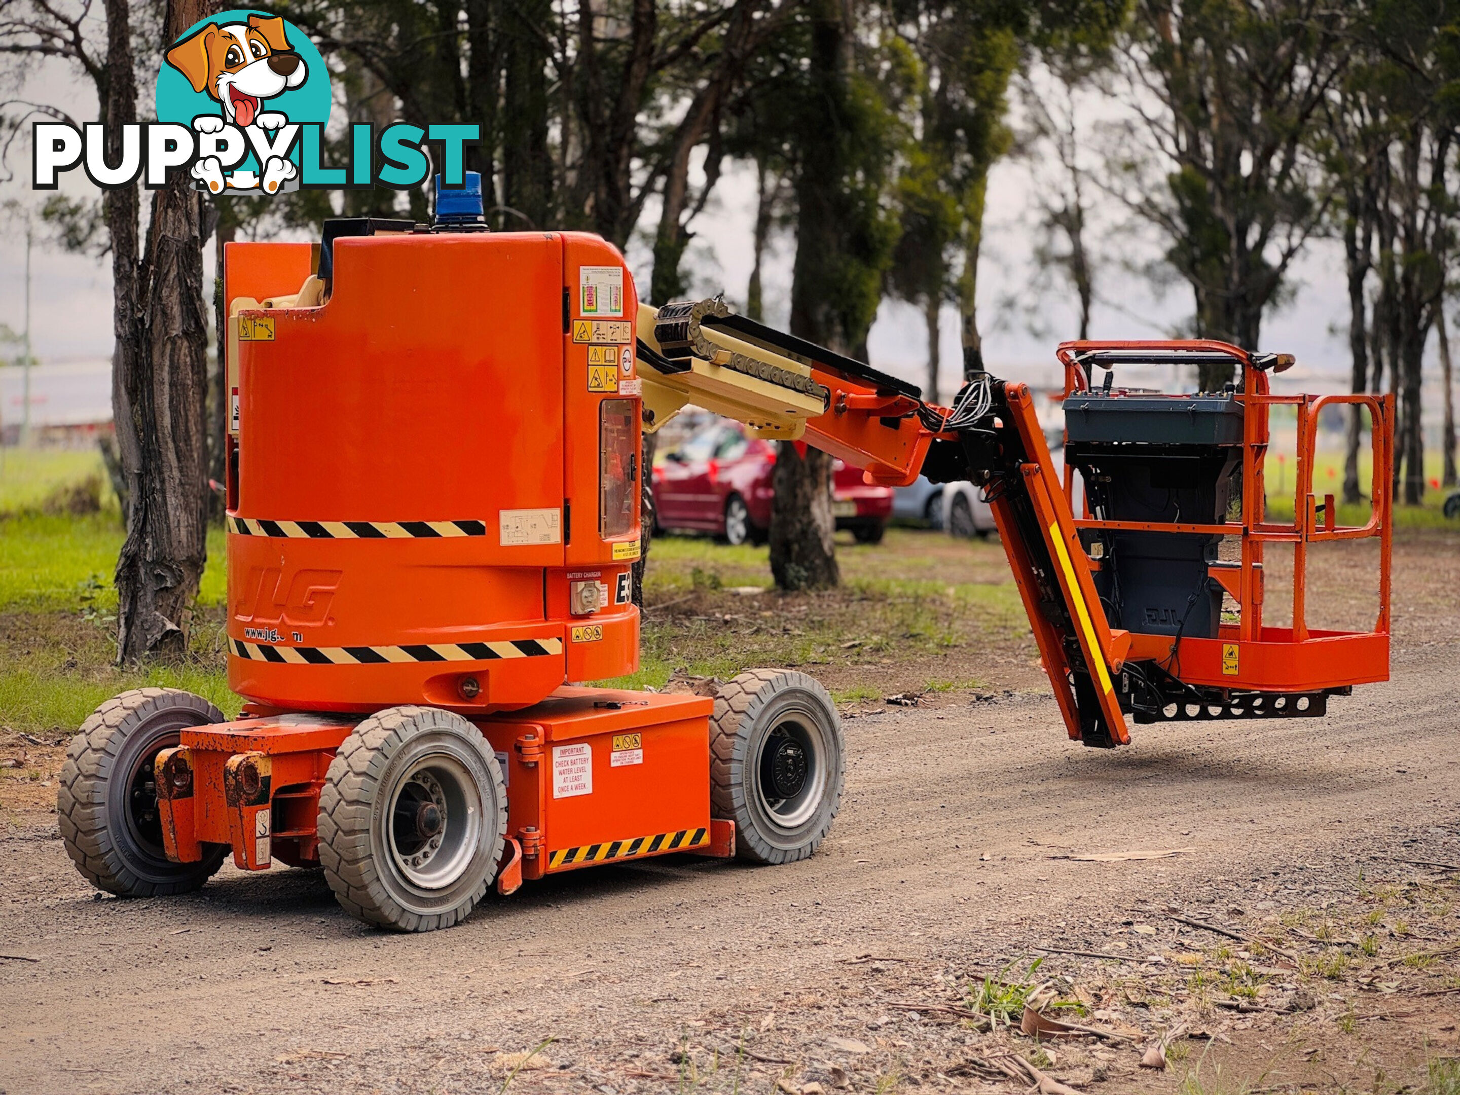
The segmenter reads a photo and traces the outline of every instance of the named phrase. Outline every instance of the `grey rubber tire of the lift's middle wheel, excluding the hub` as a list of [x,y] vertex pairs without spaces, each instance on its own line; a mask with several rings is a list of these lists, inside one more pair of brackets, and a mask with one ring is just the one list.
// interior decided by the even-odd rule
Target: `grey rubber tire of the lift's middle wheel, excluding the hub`
[[[473,796],[469,804],[480,819],[463,873],[439,888],[406,877],[388,834],[400,787],[428,758],[460,766],[470,781],[463,790]],[[324,877],[352,917],[399,931],[451,927],[466,920],[496,877],[507,834],[502,768],[482,731],[461,715],[435,707],[380,711],[355,727],[330,762],[318,832]]]

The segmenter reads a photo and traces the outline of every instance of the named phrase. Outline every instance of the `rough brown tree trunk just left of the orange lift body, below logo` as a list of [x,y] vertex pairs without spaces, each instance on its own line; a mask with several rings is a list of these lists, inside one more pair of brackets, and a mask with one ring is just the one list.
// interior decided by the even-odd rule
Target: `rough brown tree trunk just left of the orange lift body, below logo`
[[[171,0],[165,44],[206,12],[203,0]],[[174,174],[155,193],[143,355],[126,378],[128,425],[140,463],[127,540],[117,559],[120,663],[187,653],[193,600],[207,559],[207,324],[200,218],[201,200],[185,172]]]

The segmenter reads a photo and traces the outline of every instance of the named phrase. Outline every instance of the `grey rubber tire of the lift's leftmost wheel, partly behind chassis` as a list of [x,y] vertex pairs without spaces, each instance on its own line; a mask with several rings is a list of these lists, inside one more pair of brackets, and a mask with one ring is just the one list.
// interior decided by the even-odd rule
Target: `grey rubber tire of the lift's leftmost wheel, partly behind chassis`
[[168,860],[155,793],[146,797],[156,755],[175,746],[180,731],[222,721],[222,711],[191,692],[137,688],[82,723],[66,750],[55,818],[66,854],[93,886],[128,898],[188,894],[223,866],[222,845],[204,845],[199,863]]

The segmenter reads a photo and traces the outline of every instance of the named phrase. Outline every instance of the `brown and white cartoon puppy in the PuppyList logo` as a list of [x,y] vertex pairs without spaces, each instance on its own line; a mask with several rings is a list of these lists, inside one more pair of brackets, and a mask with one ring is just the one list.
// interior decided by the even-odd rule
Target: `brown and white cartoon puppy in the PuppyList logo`
[[[277,130],[288,124],[279,111],[266,111],[264,102],[308,77],[304,58],[289,47],[283,19],[260,15],[244,23],[206,23],[168,50],[168,64],[187,76],[194,92],[207,92],[222,108],[222,117],[201,114],[193,120],[199,133],[218,133],[225,123],[248,128]],[[298,168],[285,156],[269,156],[263,177],[235,171],[226,180],[218,156],[204,156],[193,165],[193,177],[219,194],[261,188],[274,194]]]

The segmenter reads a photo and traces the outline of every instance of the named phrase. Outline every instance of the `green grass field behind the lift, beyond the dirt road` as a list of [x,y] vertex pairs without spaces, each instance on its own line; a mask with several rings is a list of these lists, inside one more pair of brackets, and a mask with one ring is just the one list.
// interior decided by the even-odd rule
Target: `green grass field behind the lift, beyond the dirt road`
[[[98,702],[145,683],[187,688],[235,712],[222,645],[222,529],[209,533],[187,660],[146,670],[111,664],[111,575],[123,542],[117,502],[101,491],[98,508],[77,514],[57,501],[98,477],[101,460],[89,451],[0,450],[0,727],[69,736]],[[1330,477],[1342,483],[1339,457],[1320,458],[1315,482]],[[1396,526],[1447,524],[1441,501],[1431,491],[1422,508],[1396,507]],[[1272,512],[1283,512],[1276,495]],[[1345,523],[1364,518],[1361,507],[1340,511]],[[657,539],[645,574],[639,672],[606,683],[658,688],[676,673],[729,677],[752,666],[793,666],[822,679],[842,704],[975,689],[994,679],[1040,686],[1028,622],[997,543],[892,529],[876,546],[842,536],[838,558],[840,588],[783,596],[772,588],[765,548]]]

